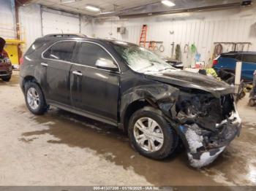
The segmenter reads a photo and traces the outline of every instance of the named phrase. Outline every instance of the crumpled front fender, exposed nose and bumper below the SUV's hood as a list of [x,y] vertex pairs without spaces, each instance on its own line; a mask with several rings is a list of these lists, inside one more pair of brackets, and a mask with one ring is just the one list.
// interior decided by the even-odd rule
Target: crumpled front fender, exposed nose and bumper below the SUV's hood
[[161,110],[176,130],[192,167],[212,163],[239,135],[241,119],[231,94],[215,97],[203,90],[184,90],[165,84],[141,85],[123,94],[121,111],[142,99]]

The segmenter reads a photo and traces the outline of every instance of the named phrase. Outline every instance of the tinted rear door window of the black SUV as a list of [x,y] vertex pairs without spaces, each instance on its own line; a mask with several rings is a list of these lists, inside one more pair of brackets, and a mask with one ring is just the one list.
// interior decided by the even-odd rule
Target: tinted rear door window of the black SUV
[[71,61],[74,48],[75,42],[57,42],[43,56],[54,60]]

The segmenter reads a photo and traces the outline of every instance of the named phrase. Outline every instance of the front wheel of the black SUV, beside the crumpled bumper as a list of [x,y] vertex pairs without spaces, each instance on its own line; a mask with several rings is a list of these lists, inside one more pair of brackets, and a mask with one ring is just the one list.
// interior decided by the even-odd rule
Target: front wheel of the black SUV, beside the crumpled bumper
[[[146,119],[150,120],[147,121]],[[152,122],[152,120],[154,122]],[[151,138],[148,138],[148,134],[146,135],[138,128],[138,126],[140,126],[138,124],[141,124],[140,122],[143,122],[143,125],[145,126],[147,126],[147,124],[151,122],[151,124],[154,124],[151,125],[152,127],[155,126],[155,122],[157,122],[157,126],[155,126],[154,128],[153,134],[155,135],[157,133],[158,135],[162,135],[163,139],[159,139],[161,136],[158,136],[157,140],[154,140],[155,137],[151,137],[153,134],[149,135],[149,137]],[[150,128],[148,128],[148,130],[149,129]],[[144,134],[144,136],[142,136],[142,134],[140,133]],[[178,136],[175,130],[173,130],[173,128],[165,120],[165,118],[157,114],[156,112],[148,111],[148,109],[145,110],[145,108],[139,109],[137,112],[132,114],[132,117],[129,119],[128,135],[131,146],[136,151],[138,151],[140,155],[153,158],[156,160],[161,160],[164,159],[165,157],[172,155],[178,145]],[[144,138],[140,138],[138,140],[138,138],[136,139],[135,137]],[[146,139],[145,137],[147,137],[148,140],[151,139],[151,141],[143,141],[143,139]],[[143,143],[141,144],[141,142]],[[150,146],[152,144],[154,144],[154,149],[153,147]]]

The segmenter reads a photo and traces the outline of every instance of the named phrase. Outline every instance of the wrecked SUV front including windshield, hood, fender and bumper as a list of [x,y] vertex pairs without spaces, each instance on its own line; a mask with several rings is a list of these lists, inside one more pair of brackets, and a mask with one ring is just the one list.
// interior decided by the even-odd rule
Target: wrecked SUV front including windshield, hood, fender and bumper
[[166,66],[142,47],[115,46],[132,71],[143,75],[136,84],[132,79],[132,88],[123,93],[121,111],[134,101],[146,100],[154,107],[151,112],[164,116],[176,131],[193,167],[212,163],[239,136],[241,119],[232,86]]

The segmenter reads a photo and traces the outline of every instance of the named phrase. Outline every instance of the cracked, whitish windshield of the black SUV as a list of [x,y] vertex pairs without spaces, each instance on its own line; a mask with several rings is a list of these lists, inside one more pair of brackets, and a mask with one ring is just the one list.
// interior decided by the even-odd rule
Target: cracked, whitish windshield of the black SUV
[[114,44],[115,50],[127,62],[128,66],[138,72],[164,71],[175,69],[159,58],[158,55],[143,47],[131,44]]

